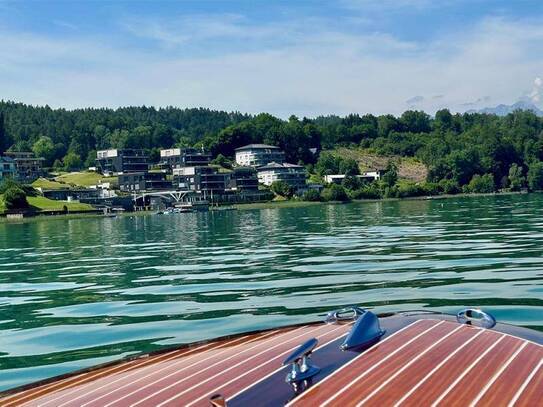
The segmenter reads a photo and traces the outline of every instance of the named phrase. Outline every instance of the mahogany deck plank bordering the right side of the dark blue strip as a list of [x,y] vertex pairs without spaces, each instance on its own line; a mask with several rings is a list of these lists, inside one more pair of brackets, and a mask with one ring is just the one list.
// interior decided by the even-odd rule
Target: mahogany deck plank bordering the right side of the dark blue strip
[[[314,406],[328,400],[336,395],[339,389],[344,388],[347,383],[354,381],[360,375],[360,372],[369,370],[372,366],[377,366],[387,355],[393,355],[394,352],[408,344],[409,341],[416,340],[415,338],[418,335],[423,335],[427,330],[434,330],[439,325],[440,321],[430,319],[414,322],[336,370],[333,374],[309,388],[289,405]],[[400,352],[403,352],[403,350],[400,350]]]

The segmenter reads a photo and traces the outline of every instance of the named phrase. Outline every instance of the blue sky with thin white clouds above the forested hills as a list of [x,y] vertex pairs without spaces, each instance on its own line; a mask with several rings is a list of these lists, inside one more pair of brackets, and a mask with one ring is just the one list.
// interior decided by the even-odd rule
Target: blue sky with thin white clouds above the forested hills
[[0,0],[0,98],[280,117],[543,107],[541,0]]

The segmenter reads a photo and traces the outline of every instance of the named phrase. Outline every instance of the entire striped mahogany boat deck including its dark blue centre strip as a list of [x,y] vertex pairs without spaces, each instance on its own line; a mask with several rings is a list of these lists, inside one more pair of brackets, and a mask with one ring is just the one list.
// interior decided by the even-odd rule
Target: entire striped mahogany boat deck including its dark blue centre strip
[[[362,353],[339,344],[352,324],[311,324],[197,344],[7,395],[1,406],[534,406],[543,346],[443,319],[417,319]],[[309,338],[322,368],[298,397],[282,362]]]

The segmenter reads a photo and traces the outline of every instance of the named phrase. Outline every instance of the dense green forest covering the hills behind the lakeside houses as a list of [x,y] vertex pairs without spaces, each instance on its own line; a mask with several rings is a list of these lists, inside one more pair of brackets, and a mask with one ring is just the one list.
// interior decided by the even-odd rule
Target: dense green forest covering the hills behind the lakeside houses
[[[143,148],[158,160],[161,148],[196,146],[231,160],[235,148],[249,143],[277,145],[287,161],[320,176],[356,172],[341,157],[321,153],[338,146],[413,157],[428,168],[427,185],[418,187],[426,189],[421,194],[543,187],[543,119],[529,111],[499,117],[446,109],[430,116],[409,110],[399,117],[350,114],[283,120],[267,113],[204,108],[65,110],[0,102],[0,151],[32,150],[47,166],[68,170],[93,165],[99,149]],[[388,195],[401,196],[395,169],[387,172],[394,181]],[[377,194],[368,186],[346,187],[351,192],[364,187],[362,196]]]

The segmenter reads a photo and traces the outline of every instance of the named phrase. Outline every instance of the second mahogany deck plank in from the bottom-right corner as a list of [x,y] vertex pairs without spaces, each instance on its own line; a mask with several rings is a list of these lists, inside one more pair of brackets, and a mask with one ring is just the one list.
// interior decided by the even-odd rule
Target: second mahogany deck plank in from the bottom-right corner
[[[543,347],[529,343],[498,376],[480,399],[479,405],[496,406],[509,403],[530,373],[543,359]],[[543,397],[543,393],[540,394]]]

